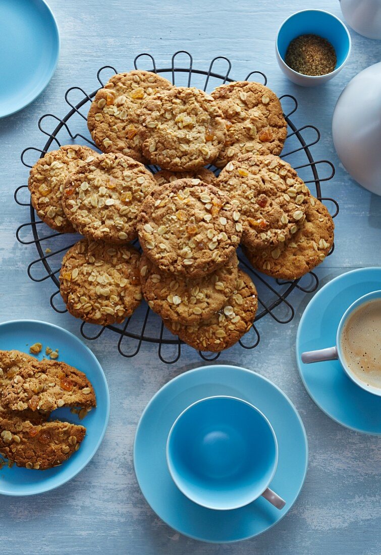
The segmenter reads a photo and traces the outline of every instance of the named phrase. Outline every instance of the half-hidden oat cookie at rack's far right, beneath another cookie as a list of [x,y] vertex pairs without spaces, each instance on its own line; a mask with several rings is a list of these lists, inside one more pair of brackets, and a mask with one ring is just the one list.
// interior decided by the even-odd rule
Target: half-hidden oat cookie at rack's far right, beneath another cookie
[[313,196],[305,220],[288,241],[262,251],[244,249],[253,268],[273,278],[301,278],[320,264],[333,244],[334,223],[327,208]]

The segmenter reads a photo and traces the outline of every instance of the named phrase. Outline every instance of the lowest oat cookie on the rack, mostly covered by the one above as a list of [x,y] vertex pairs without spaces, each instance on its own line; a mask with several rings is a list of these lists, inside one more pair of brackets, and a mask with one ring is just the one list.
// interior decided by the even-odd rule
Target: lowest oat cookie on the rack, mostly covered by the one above
[[247,274],[238,270],[237,285],[222,309],[208,320],[191,326],[164,320],[174,335],[200,351],[228,349],[252,326],[258,307],[257,290]]

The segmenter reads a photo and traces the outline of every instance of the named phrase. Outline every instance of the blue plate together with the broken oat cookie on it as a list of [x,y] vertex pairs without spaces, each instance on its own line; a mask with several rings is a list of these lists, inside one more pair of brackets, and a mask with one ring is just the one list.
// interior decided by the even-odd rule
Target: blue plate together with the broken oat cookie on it
[[[0,351],[21,352],[0,353],[0,493],[53,490],[81,472],[101,445],[109,417],[106,377],[81,340],[47,322],[0,324]],[[41,420],[47,405],[53,410]],[[41,470],[51,464],[57,466]]]

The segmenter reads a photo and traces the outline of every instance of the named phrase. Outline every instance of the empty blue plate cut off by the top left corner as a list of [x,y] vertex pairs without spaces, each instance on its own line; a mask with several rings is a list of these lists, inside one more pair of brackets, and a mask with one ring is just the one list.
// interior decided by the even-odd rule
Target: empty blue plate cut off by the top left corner
[[0,118],[18,112],[43,91],[57,67],[59,34],[43,0],[0,2]]

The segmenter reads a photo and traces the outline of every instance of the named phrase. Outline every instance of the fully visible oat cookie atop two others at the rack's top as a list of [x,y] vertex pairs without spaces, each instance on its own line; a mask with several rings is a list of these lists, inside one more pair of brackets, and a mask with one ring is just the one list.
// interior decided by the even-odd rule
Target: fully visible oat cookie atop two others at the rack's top
[[143,100],[139,122],[144,156],[171,171],[213,163],[226,138],[213,98],[195,88],[174,87]]

